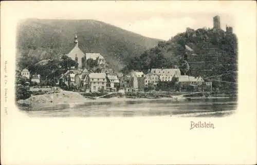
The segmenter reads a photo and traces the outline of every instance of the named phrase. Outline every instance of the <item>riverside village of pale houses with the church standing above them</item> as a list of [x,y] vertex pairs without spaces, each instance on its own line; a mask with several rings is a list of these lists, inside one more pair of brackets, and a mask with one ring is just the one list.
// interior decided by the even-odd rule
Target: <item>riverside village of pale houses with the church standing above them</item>
[[[181,75],[178,68],[153,68],[144,74],[132,70],[124,75],[108,68],[100,53],[84,53],[78,45],[75,36],[75,47],[67,56],[76,60],[77,68],[72,68],[60,75],[54,86],[64,90],[85,93],[104,92],[143,92],[143,91],[212,91],[212,82],[206,82],[202,77]],[[85,61],[93,59],[101,69],[98,72],[86,69]],[[30,86],[30,91],[51,90],[51,87],[41,86],[41,75],[31,75],[28,69],[23,69],[17,76],[28,79],[24,85]],[[31,86],[33,84],[33,86]]]

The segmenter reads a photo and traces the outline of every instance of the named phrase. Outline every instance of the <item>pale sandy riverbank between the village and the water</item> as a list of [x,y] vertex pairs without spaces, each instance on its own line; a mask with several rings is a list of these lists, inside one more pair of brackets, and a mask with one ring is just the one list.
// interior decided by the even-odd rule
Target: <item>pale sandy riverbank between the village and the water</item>
[[[208,99],[208,97],[203,98]],[[212,99],[212,98],[211,98]],[[78,92],[60,91],[59,93],[34,95],[25,100],[19,100],[16,102],[18,107],[29,107],[33,110],[49,110],[49,109],[64,109],[72,108],[74,106],[83,105],[86,103],[98,103],[98,102],[120,102],[120,101],[157,101],[157,100],[170,100],[178,102],[178,100],[172,97],[160,97],[160,98],[127,98],[127,97],[111,97],[111,98],[85,98]],[[179,102],[188,101],[188,99],[179,100]]]

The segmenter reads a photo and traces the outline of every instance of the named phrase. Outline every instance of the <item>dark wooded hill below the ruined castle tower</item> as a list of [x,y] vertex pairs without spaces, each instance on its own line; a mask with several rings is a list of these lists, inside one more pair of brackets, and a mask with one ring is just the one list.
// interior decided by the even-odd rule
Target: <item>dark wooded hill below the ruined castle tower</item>
[[[131,57],[123,72],[132,69],[148,72],[152,68],[180,68],[182,74],[191,75],[192,67],[187,61],[186,45],[193,49],[193,54],[206,55],[215,51],[218,61],[212,66],[211,75],[237,71],[236,35],[222,29],[201,28],[187,29],[186,32],[178,33],[168,41],[159,42],[157,46],[144,51],[140,56]],[[207,75],[201,76],[207,77]]]

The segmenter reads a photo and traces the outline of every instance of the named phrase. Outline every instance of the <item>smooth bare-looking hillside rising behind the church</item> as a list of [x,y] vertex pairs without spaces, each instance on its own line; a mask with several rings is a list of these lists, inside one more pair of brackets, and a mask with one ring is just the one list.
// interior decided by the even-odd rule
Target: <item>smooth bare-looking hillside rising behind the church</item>
[[82,51],[101,53],[116,70],[123,68],[128,58],[139,56],[160,40],[97,20],[26,19],[17,28],[17,58],[24,54],[35,62],[60,58],[74,47],[75,34]]

